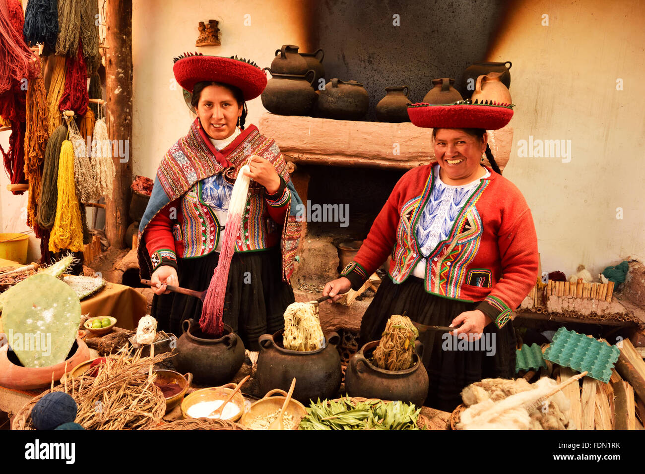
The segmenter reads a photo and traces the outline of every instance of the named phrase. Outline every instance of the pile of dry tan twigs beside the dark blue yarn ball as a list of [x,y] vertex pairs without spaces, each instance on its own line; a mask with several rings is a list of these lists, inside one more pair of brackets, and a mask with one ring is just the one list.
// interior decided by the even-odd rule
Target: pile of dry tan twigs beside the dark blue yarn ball
[[166,401],[163,393],[148,377],[151,364],[170,357],[134,357],[121,350],[106,357],[96,377],[83,377],[81,384],[67,382],[65,391],[78,406],[76,420],[86,430],[147,430],[163,417]]

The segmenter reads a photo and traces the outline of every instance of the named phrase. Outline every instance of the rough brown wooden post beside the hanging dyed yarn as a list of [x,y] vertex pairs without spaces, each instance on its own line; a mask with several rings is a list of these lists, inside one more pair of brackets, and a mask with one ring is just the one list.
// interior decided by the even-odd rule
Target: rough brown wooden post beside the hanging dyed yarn
[[132,195],[132,0],[108,1],[106,22],[106,122],[116,155],[114,193],[105,209],[106,234],[112,247],[123,248]]

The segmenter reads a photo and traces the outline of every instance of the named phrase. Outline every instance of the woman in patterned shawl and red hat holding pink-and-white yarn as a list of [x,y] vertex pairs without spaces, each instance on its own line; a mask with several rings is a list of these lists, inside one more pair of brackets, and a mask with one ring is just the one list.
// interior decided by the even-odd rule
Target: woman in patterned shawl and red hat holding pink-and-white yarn
[[139,226],[141,277],[156,286],[152,315],[159,328],[181,333],[199,321],[202,301],[166,291],[166,285],[203,291],[219,261],[228,204],[244,164],[251,184],[230,264],[224,323],[246,348],[284,326],[294,301],[289,279],[300,237],[302,204],[275,142],[244,126],[246,101],[259,96],[266,75],[237,57],[182,55],[177,82],[192,94],[197,117],[188,134],[163,157]]

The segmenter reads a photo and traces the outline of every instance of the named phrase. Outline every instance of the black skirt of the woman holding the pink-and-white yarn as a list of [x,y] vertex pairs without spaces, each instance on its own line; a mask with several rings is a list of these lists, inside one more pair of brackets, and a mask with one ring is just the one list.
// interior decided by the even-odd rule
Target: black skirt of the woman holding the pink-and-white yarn
[[[206,290],[218,261],[217,252],[194,259],[179,259],[179,286]],[[258,351],[258,337],[284,327],[284,310],[295,301],[290,284],[282,281],[281,269],[279,247],[236,252],[231,259],[224,298],[224,324],[233,328],[248,350]],[[199,321],[202,304],[199,298],[171,292],[154,296],[151,313],[160,330],[179,336],[184,320]]]

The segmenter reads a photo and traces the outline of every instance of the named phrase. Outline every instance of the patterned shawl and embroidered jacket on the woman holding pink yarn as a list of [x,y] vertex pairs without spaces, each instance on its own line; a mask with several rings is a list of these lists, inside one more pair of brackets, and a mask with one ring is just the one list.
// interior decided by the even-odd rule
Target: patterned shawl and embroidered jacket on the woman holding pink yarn
[[[302,202],[280,150],[272,139],[250,125],[218,151],[204,137],[198,120],[195,119],[188,135],[168,150],[157,170],[150,202],[139,226],[141,277],[149,277],[162,264],[176,268],[177,256],[201,257],[217,248],[224,226],[219,224],[214,211],[223,204],[228,208],[228,199],[215,194],[218,191],[226,194],[224,180],[234,183],[248,157],[259,155],[273,164],[281,184],[275,194],[269,195],[263,186],[251,183],[235,250],[252,252],[280,244],[283,280],[289,281],[301,233],[302,223],[296,217]],[[219,184],[213,183],[213,179]]]

